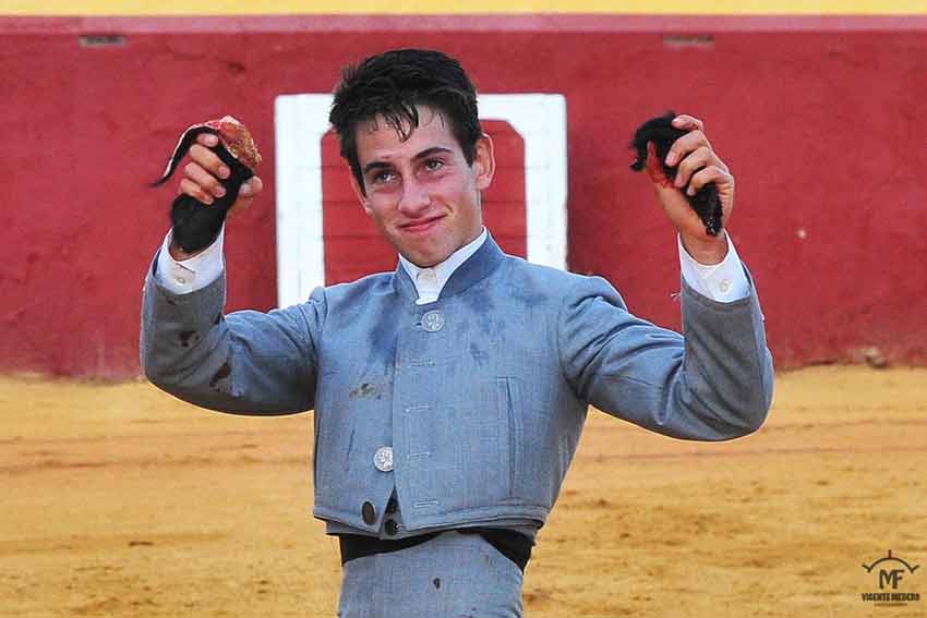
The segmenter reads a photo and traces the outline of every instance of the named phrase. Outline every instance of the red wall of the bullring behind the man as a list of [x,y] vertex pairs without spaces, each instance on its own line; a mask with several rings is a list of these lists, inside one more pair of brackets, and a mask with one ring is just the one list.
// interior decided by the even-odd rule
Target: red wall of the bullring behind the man
[[[265,154],[230,226],[229,308],[275,304],[274,98],[332,89],[397,46],[460,58],[486,93],[567,99],[569,263],[676,326],[674,239],[627,142],[700,116],[737,178],[731,232],[779,366],[927,362],[927,22],[619,17],[0,20],[0,371],[137,373],[178,133],[232,113]],[[674,36],[665,37],[664,34]],[[122,35],[82,46],[80,35]],[[682,35],[675,36],[675,35]],[[706,38],[705,35],[712,36]]]

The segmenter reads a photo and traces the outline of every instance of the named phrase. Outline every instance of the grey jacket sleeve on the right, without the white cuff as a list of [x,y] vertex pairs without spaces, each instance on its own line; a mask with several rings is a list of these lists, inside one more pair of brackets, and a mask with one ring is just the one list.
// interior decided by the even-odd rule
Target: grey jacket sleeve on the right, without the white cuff
[[595,408],[663,435],[724,440],[758,429],[773,372],[753,281],[732,303],[683,281],[681,299],[682,336],[628,313],[604,279],[583,278],[558,318],[565,378]]

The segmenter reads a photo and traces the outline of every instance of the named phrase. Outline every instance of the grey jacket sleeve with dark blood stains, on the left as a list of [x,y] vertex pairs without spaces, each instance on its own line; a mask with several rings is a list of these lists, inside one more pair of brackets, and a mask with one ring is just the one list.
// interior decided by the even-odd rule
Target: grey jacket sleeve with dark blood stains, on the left
[[313,408],[324,291],[269,313],[222,314],[225,272],[188,294],[149,269],[142,300],[141,361],[147,378],[203,408],[288,414]]

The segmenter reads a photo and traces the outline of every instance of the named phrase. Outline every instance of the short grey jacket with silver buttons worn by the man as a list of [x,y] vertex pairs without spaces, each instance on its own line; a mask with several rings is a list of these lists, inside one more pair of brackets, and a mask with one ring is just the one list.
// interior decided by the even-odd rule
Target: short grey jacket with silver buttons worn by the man
[[[436,302],[416,299],[398,266],[303,304],[224,316],[224,278],[174,295],[149,274],[142,364],[204,408],[314,409],[314,513],[371,533],[394,487],[409,531],[543,523],[590,403],[700,440],[748,434],[769,409],[753,287],[724,304],[684,283],[683,338],[629,314],[604,279],[528,264],[489,238]],[[392,471],[373,463],[383,446]]]

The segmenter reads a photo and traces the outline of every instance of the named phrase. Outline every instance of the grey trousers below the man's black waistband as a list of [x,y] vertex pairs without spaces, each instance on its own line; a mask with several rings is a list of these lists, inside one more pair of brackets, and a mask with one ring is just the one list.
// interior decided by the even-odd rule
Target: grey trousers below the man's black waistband
[[518,566],[479,534],[449,531],[345,562],[339,618],[522,618]]

